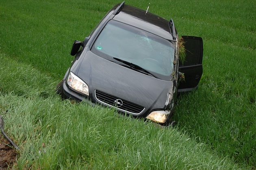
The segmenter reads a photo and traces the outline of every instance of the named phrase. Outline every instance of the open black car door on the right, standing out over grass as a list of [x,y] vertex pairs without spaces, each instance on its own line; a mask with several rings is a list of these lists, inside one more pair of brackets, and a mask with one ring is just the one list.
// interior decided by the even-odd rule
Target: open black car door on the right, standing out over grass
[[179,82],[178,92],[197,88],[202,77],[203,40],[201,37],[182,36],[186,50],[184,63],[179,62],[179,72],[184,73],[185,81]]

